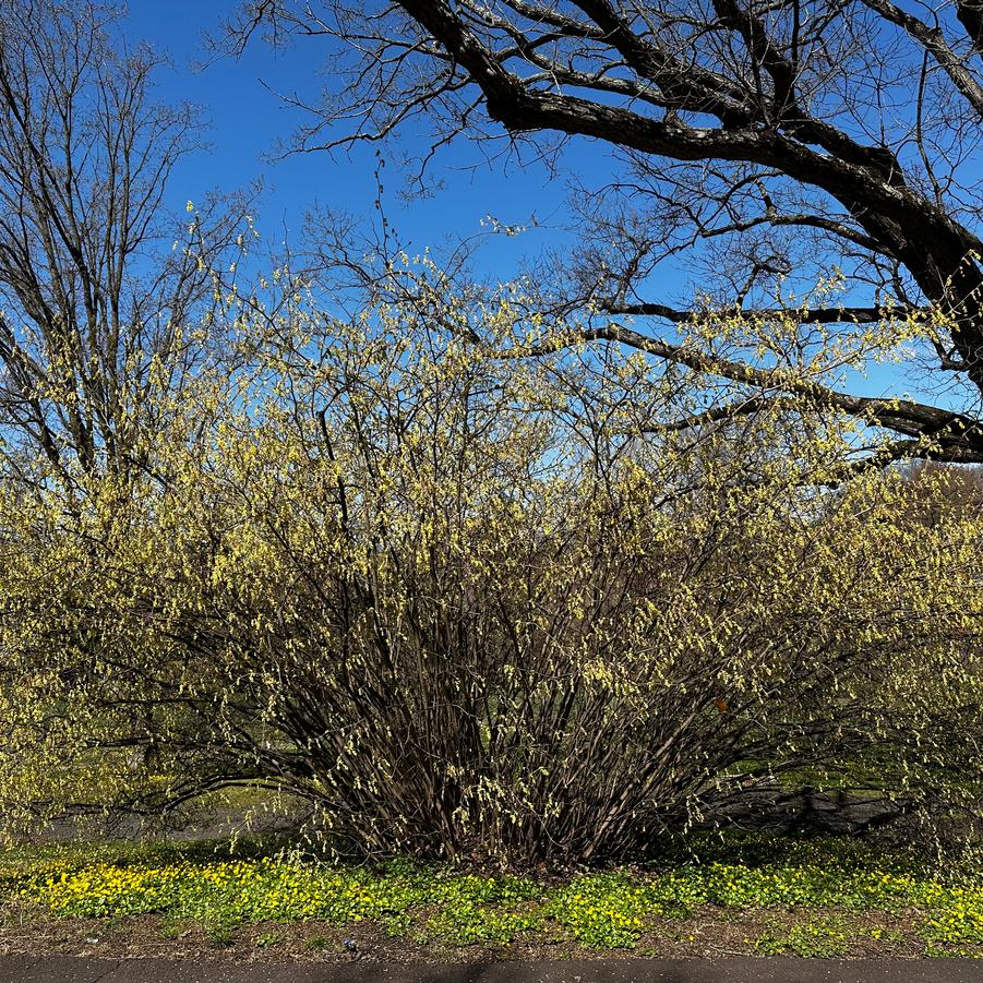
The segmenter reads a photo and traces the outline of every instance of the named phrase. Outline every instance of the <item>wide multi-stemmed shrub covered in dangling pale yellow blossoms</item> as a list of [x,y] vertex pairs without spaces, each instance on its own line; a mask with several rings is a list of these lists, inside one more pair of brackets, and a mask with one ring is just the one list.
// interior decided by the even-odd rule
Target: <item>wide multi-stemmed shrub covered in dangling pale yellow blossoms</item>
[[769,400],[437,299],[237,314],[240,368],[161,396],[135,470],[8,460],[4,815],[254,786],[370,853],[517,864],[810,769],[980,801],[980,508],[856,466],[811,388],[841,341],[687,328],[784,352]]

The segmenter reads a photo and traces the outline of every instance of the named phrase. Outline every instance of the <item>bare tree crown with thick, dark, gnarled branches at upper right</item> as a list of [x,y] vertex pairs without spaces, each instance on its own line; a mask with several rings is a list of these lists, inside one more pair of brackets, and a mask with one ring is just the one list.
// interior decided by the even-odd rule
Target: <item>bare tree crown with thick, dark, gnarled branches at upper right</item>
[[[824,398],[899,435],[897,456],[980,461],[981,23],[971,2],[257,0],[224,40],[241,51],[264,25],[325,39],[326,97],[291,96],[309,113],[299,149],[420,119],[434,148],[455,135],[616,148],[623,177],[574,205],[585,244],[543,310],[685,323],[693,310],[649,293],[680,255],[717,305],[765,315],[777,281],[837,267],[848,302],[802,310],[804,328],[932,307],[919,352],[937,404]],[[591,336],[685,361],[657,326]]]

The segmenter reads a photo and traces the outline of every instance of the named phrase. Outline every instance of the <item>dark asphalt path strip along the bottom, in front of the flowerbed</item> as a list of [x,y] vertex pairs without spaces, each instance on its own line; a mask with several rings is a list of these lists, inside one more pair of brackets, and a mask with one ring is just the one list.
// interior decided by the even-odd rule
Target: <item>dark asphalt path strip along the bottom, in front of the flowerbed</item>
[[404,967],[0,956],[2,983],[983,983],[983,959],[618,959]]

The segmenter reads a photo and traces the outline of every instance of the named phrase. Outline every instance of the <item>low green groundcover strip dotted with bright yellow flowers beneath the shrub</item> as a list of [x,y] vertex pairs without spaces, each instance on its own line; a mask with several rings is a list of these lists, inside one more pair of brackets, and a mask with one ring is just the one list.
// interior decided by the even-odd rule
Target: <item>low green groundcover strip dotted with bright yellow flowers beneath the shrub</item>
[[[863,928],[872,939],[891,940],[887,923],[903,915],[932,951],[983,955],[983,876],[972,864],[939,867],[847,840],[705,838],[646,870],[559,882],[406,860],[285,860],[274,846],[12,849],[0,854],[0,898],[68,919],[159,915],[165,932],[196,924],[216,946],[251,923],[316,920],[439,946],[526,938],[635,949],[669,921],[698,912],[722,924],[760,910],[775,913],[753,939],[762,954],[842,955],[858,933],[849,920],[879,913],[884,925],[866,918]],[[260,939],[273,946],[278,935]]]

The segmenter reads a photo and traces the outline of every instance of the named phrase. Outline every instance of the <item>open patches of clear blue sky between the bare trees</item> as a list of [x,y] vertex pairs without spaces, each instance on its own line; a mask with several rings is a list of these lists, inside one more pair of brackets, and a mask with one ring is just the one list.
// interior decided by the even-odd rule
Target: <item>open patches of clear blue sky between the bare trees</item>
[[[216,28],[236,7],[236,0],[204,4],[200,0],[132,0],[122,25],[129,38],[147,40],[172,58],[173,67],[157,75],[160,99],[187,99],[200,105],[204,118],[211,121],[211,151],[187,158],[176,170],[168,204],[180,211],[184,202],[200,201],[208,191],[242,188],[263,178],[265,191],[257,208],[257,226],[274,244],[284,230],[296,243],[304,209],[315,202],[371,218],[376,196],[374,146],[359,145],[336,151],[333,156],[313,153],[276,161],[263,159],[275,148],[277,139],[288,137],[300,120],[297,110],[285,107],[271,87],[296,89],[307,97],[316,93],[323,85],[323,38],[300,39],[287,50],[274,50],[257,38],[238,61],[224,58],[204,69],[194,68],[206,57],[202,33]],[[419,151],[412,137],[404,139],[401,148]],[[399,149],[397,146],[393,153]],[[515,239],[490,237],[482,249],[482,272],[508,278],[523,253],[535,254],[548,243],[562,240],[556,227],[562,223],[567,190],[563,177],[551,180],[542,164],[475,169],[480,159],[473,147],[458,140],[432,164],[442,189],[430,197],[409,202],[398,194],[405,187],[405,175],[399,173],[398,160],[389,159],[382,171],[386,215],[413,251],[439,249],[446,237],[480,235],[481,219],[489,214],[505,224],[526,224],[535,215],[542,228]],[[609,152],[583,140],[572,143],[561,159],[588,187],[616,173]],[[686,301],[688,285],[679,271],[674,275],[667,271],[651,286],[654,299]],[[897,369],[875,367],[870,379],[852,379],[850,387],[872,395],[890,391],[916,394],[916,383],[906,376]]]

